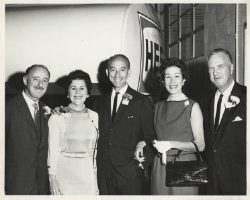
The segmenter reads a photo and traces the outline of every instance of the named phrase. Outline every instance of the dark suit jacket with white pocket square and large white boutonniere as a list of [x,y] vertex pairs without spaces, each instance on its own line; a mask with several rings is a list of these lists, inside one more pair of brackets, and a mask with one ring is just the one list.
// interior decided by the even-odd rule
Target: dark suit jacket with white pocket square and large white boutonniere
[[[246,87],[235,83],[231,96],[238,97],[240,103],[225,109],[217,130],[214,130],[214,95],[208,98],[203,113],[211,179],[208,192],[218,194],[214,186],[219,184],[223,194],[243,195],[246,194]],[[236,117],[242,120],[234,121]]]

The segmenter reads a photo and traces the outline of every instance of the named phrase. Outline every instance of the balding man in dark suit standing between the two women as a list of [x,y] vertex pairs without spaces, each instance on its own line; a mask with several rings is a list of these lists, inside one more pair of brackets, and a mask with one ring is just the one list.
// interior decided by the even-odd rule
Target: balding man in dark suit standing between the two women
[[141,194],[140,167],[146,168],[153,157],[149,146],[155,138],[153,105],[146,96],[128,86],[130,62],[126,56],[112,56],[106,72],[113,89],[101,96],[97,103],[100,194]]

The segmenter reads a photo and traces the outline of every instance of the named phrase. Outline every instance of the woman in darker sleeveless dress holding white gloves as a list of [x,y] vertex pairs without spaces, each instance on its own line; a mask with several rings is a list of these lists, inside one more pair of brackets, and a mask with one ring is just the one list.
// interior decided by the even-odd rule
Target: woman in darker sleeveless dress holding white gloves
[[177,58],[168,59],[160,67],[161,78],[169,96],[155,105],[154,126],[157,140],[154,147],[158,154],[154,158],[151,179],[151,194],[196,195],[198,187],[168,187],[165,185],[166,164],[172,161],[178,150],[182,150],[177,161],[196,160],[196,143],[203,151],[204,130],[200,106],[183,92],[187,73],[186,66]]

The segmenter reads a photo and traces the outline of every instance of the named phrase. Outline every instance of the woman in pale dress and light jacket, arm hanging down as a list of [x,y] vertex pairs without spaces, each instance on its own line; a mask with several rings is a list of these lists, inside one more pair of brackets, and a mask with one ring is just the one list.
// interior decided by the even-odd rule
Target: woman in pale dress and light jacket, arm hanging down
[[81,70],[67,77],[70,103],[49,119],[49,179],[53,195],[97,195],[98,115],[85,107],[91,80]]

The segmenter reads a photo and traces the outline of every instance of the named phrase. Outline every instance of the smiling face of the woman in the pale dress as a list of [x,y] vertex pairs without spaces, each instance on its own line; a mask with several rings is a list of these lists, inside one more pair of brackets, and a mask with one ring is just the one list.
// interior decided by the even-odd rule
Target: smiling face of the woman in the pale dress
[[88,89],[85,81],[80,79],[72,80],[68,88],[68,97],[73,105],[83,105],[88,97]]

